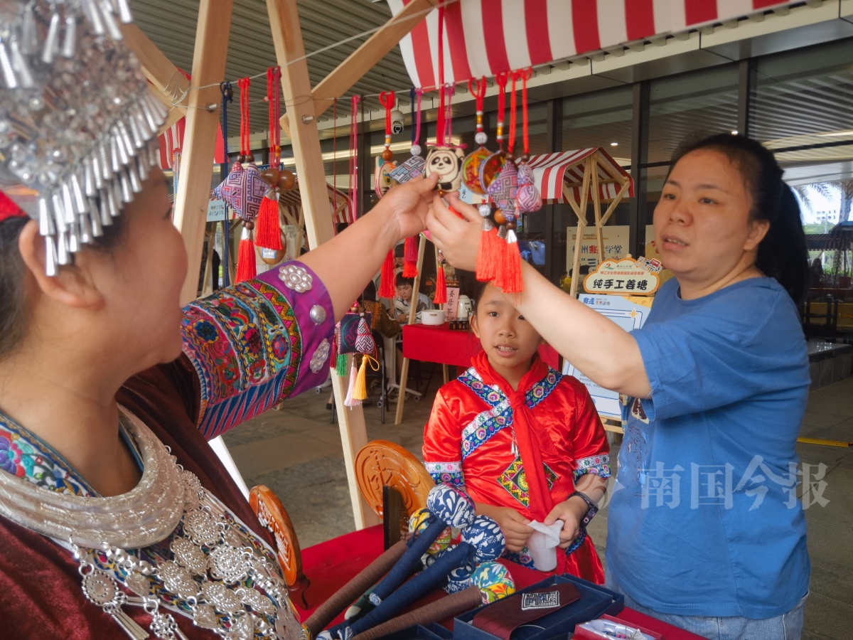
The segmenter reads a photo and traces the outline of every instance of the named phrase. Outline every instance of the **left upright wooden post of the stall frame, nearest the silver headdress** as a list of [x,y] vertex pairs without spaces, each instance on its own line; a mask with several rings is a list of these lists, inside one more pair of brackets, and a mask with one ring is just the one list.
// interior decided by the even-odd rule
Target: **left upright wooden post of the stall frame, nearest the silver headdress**
[[[219,101],[219,82],[225,75],[233,0],[201,0],[195,30],[192,83],[183,136],[181,177],[175,195],[175,226],[187,249],[187,277],[181,304],[198,295],[202,242],[207,224],[207,202],[213,176],[213,156],[219,126],[218,110],[206,105]],[[212,86],[199,89],[207,84]]]

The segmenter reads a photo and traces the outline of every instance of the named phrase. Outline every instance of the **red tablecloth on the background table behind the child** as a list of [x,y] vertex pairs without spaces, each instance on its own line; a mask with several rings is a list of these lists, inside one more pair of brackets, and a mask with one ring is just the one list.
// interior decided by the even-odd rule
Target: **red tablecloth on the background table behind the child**
[[[431,327],[426,324],[403,325],[403,357],[421,362],[451,364],[467,369],[471,358],[483,346],[470,331],[451,331],[448,324]],[[539,347],[539,355],[554,369],[560,369],[560,356],[553,346]]]

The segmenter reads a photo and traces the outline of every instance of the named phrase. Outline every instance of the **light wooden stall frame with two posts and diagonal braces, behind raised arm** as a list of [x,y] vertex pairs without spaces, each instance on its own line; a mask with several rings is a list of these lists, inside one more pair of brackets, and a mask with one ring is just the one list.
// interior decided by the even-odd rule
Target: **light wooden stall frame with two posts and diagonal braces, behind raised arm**
[[[349,90],[420,22],[413,20],[412,16],[420,16],[425,9],[436,6],[438,0],[412,0],[314,88],[308,75],[296,0],[267,0],[266,4],[276,47],[276,63],[281,67],[282,102],[288,105],[287,113],[281,117],[281,125],[293,145],[296,173],[305,177],[301,189],[305,232],[309,247],[317,247],[334,236],[334,227],[332,217],[328,215],[326,178],[316,118],[331,108],[334,98]],[[172,106],[164,93],[178,76],[183,79],[183,74],[139,27],[122,26],[127,43],[136,52],[143,72],[154,85],[154,94],[171,107],[165,127],[184,115],[187,118],[182,180],[175,197],[175,225],[181,230],[189,266],[181,292],[183,304],[194,300],[197,293],[212,177],[211,160],[220,116],[217,108],[208,109],[208,105],[220,102],[219,83],[225,75],[227,55],[223,43],[228,42],[233,8],[233,0],[199,2],[192,80],[183,82],[189,84],[185,107]],[[310,100],[305,99],[307,96]],[[356,527],[363,528],[378,522],[373,511],[363,503],[355,477],[355,456],[368,441],[367,430],[361,408],[351,410],[344,406],[345,389],[337,375],[332,377],[352,511]]]

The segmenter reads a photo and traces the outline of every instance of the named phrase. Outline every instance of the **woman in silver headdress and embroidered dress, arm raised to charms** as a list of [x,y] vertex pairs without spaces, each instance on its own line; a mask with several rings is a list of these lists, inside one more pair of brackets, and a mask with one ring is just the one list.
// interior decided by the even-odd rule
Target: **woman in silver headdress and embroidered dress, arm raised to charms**
[[299,637],[205,439],[325,380],[335,319],[423,229],[434,180],[181,310],[129,20],[125,0],[0,0],[3,636]]

